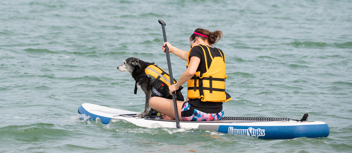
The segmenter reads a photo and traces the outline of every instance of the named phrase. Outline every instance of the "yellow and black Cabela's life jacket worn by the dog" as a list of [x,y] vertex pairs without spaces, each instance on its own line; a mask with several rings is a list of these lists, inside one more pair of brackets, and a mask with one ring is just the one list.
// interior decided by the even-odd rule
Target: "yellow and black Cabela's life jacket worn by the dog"
[[[139,73],[134,80],[136,80],[136,85],[134,87],[134,94],[137,94],[137,82],[139,82],[140,78],[148,77],[151,83],[152,89],[152,97],[163,97],[172,99],[172,95],[169,93],[170,84],[170,76],[166,73],[162,68],[157,65],[149,65],[144,69],[142,73]],[[176,84],[176,80],[174,79],[174,84]],[[177,91],[181,91],[183,89],[182,86],[178,88]],[[177,92],[176,92],[177,93]],[[176,95],[177,100],[183,101],[183,95],[181,92]]]

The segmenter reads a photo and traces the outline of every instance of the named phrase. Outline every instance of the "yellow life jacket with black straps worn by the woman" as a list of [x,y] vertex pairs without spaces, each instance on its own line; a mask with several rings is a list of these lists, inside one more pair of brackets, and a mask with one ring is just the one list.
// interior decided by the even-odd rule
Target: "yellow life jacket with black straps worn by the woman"
[[[206,46],[206,50],[202,46],[200,47],[203,49],[207,71],[203,74],[198,71],[188,80],[187,98],[198,98],[201,99],[201,101],[212,102],[226,102],[231,100],[231,96],[225,92],[225,79],[227,76],[224,53],[218,49],[221,57],[213,58],[208,46]],[[189,54],[190,51],[188,52],[187,66],[189,65]],[[210,61],[207,59],[210,58],[212,61],[211,64],[208,64]]]

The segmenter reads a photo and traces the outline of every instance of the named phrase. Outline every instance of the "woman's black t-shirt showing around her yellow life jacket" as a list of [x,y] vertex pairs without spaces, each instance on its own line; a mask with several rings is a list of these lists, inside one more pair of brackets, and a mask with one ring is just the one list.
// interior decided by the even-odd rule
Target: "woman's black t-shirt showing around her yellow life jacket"
[[[208,52],[208,49],[206,46],[200,45],[204,48],[206,52]],[[189,59],[191,56],[196,56],[200,59],[199,66],[197,68],[197,72],[200,71],[201,74],[207,72],[207,68],[205,65],[205,59],[204,59],[204,52],[203,49],[200,46],[194,46],[190,53],[189,53]],[[208,46],[209,47],[209,46]],[[209,47],[210,53],[212,54],[213,58],[220,56],[221,53],[218,51],[218,48],[212,48]],[[221,50],[220,50],[221,51]],[[225,58],[225,57],[224,57]],[[207,63],[211,64],[212,59],[209,57],[207,58]],[[210,101],[201,101],[201,99],[190,99],[188,103],[194,107],[195,109],[202,111],[204,113],[219,113],[222,111],[222,102],[210,102]]]

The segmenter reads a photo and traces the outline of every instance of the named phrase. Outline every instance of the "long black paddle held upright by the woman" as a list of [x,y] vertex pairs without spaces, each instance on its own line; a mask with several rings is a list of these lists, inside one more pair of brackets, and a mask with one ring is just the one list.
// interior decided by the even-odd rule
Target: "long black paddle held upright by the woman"
[[[163,20],[158,20],[159,24],[161,24],[161,28],[163,29],[163,36],[164,36],[164,42],[166,42],[166,32],[165,32],[165,22]],[[171,62],[170,62],[170,53],[169,53],[169,47],[165,45],[165,53],[166,53],[166,60],[168,61],[168,68],[169,68],[169,75],[170,75],[170,84],[174,84],[174,77],[172,76],[172,69],[171,69]],[[177,104],[176,104],[176,98],[175,98],[175,92],[172,92],[172,100],[174,101],[174,111],[175,111],[175,119],[176,119],[176,127],[180,128],[180,120],[178,119],[178,111],[177,111]]]

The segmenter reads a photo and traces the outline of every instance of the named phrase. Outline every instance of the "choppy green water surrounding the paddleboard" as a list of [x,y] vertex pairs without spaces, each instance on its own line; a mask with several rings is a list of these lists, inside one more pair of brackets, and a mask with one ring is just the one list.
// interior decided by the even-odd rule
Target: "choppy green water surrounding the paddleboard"
[[[224,33],[225,116],[309,113],[330,135],[263,140],[77,114],[86,102],[143,111],[143,93],[116,67],[135,56],[167,71],[159,19],[183,50],[198,27]],[[171,62],[178,79],[186,63]],[[0,104],[4,153],[352,152],[352,1],[2,0]]]

